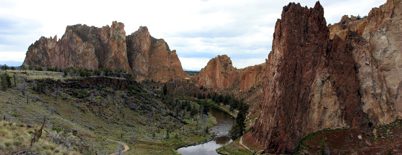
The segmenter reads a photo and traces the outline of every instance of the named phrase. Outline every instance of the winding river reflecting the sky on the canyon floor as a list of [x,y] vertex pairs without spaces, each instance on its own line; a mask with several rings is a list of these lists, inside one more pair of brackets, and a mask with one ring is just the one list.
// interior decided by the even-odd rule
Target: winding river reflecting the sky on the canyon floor
[[218,108],[210,107],[209,112],[217,119],[217,124],[210,128],[210,131],[214,132],[217,138],[207,143],[181,147],[177,149],[177,152],[183,155],[218,154],[215,149],[233,141],[229,136],[229,130],[232,128],[234,121],[233,118]]

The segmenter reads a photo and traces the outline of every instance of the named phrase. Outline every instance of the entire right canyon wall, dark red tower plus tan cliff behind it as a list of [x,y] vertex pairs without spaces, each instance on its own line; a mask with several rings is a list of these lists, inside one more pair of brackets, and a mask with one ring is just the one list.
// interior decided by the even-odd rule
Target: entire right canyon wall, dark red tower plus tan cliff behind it
[[319,2],[284,7],[252,136],[268,152],[293,153],[317,130],[370,131],[368,122],[401,117],[401,11],[400,0],[388,0],[367,18],[344,16],[327,27]]

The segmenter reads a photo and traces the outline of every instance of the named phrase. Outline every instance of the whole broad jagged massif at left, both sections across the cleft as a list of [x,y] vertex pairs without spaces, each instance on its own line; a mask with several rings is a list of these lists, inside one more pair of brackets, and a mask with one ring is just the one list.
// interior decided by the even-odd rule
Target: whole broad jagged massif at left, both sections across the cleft
[[59,41],[41,37],[28,48],[24,65],[124,69],[134,71],[138,81],[188,76],[163,39],[151,37],[146,27],[126,37],[124,24],[118,22],[102,28],[67,26]]

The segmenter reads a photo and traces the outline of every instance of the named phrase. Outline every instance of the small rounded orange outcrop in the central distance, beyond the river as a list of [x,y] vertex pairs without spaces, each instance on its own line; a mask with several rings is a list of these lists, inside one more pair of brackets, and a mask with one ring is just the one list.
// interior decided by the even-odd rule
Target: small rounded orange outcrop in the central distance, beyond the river
[[230,84],[239,80],[240,71],[233,67],[232,61],[227,55],[218,55],[211,59],[207,66],[199,71],[196,79],[199,86],[216,91],[223,91]]

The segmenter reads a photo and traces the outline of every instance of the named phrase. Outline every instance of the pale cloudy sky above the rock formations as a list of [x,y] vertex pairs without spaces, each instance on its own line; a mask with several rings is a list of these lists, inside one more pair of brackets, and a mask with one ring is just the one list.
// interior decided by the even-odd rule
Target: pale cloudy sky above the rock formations
[[[244,68],[265,62],[275,22],[290,1],[32,1],[0,0],[0,61],[24,61],[28,47],[41,36],[60,39],[67,25],[103,27],[125,24],[126,35],[140,26],[176,50],[183,69],[200,70],[217,55]],[[386,0],[320,1],[327,24],[343,15],[366,16]],[[314,7],[316,1],[296,1]]]

